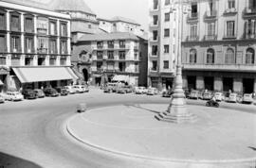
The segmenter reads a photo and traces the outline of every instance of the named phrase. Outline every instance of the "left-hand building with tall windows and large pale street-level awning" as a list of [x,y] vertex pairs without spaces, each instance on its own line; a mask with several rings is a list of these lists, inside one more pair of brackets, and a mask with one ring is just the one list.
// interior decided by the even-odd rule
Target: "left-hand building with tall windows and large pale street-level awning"
[[0,1],[1,92],[67,85],[70,66],[69,15]]

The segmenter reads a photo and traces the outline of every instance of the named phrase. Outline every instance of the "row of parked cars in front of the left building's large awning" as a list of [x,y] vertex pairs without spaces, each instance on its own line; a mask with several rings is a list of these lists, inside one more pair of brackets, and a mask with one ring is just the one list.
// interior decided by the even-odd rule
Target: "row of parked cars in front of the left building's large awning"
[[19,101],[23,99],[36,99],[44,97],[57,97],[59,95],[67,95],[73,93],[82,93],[89,92],[87,86],[84,85],[73,85],[73,86],[64,86],[56,88],[45,88],[41,89],[25,89],[22,92],[6,92],[0,94],[0,103],[4,103],[5,100],[9,101]]

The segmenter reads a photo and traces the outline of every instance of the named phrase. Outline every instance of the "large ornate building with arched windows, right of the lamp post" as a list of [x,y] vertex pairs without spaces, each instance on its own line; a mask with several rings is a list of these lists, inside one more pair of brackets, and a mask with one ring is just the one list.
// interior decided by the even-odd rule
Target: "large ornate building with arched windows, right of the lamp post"
[[256,0],[194,1],[184,18],[184,87],[256,92]]

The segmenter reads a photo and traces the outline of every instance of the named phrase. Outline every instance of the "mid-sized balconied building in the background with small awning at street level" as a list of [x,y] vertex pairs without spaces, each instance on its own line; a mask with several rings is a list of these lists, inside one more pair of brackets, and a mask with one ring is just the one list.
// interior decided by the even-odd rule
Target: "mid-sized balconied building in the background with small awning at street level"
[[[126,76],[128,83],[147,83],[147,41],[131,33],[84,35],[74,45],[78,71],[85,81],[101,84],[102,77]],[[88,52],[88,50],[90,52]]]

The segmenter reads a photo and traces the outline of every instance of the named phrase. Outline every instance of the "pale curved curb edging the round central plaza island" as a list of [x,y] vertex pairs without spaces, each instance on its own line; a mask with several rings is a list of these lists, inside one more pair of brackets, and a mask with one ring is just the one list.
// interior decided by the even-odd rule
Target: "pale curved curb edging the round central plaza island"
[[[115,107],[115,106],[109,106],[109,107]],[[106,107],[94,108],[94,109],[104,109],[104,108],[106,108]],[[89,109],[87,111],[91,111],[91,110],[93,110],[93,109]],[[167,162],[174,162],[174,163],[181,163],[181,164],[188,164],[188,163],[192,163],[192,164],[220,164],[220,163],[239,164],[240,163],[240,164],[249,164],[250,166],[256,167],[256,157],[249,158],[249,159],[241,159],[241,160],[178,160],[178,159],[164,159],[164,158],[147,157],[147,156],[141,156],[141,155],[125,153],[125,152],[120,152],[120,151],[115,151],[115,150],[111,150],[108,148],[104,148],[100,145],[87,142],[87,141],[83,140],[82,138],[80,138],[78,135],[76,135],[76,133],[74,133],[74,131],[72,130],[72,128],[70,126],[70,122],[75,120],[75,118],[77,118],[77,117],[82,117],[81,115],[82,115],[82,113],[75,114],[74,116],[68,118],[64,123],[64,129],[67,131],[67,133],[69,135],[71,135],[71,137],[78,140],[79,142],[84,143],[92,148],[98,149],[103,152],[108,152],[108,153],[111,153],[114,155],[120,155],[123,157],[130,157],[130,158],[140,159],[140,160],[167,161]],[[218,165],[218,166],[220,166],[220,165]]]

